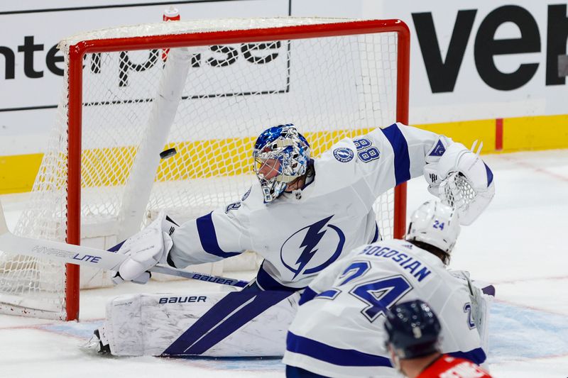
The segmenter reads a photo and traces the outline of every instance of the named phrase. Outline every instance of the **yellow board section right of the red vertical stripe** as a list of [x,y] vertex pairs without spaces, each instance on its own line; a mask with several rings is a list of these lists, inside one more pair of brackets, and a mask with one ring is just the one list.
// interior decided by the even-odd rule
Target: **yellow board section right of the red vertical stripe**
[[568,148],[568,114],[505,118],[503,151]]

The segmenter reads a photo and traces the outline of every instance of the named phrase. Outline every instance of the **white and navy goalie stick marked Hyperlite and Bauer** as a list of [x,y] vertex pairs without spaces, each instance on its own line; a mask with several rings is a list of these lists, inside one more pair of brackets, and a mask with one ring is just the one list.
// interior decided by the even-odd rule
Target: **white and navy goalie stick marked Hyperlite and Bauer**
[[[84,247],[83,245],[73,245],[52,240],[41,240],[26,238],[24,236],[13,235],[6,225],[4,209],[0,203],[0,251],[14,255],[26,255],[31,257],[41,257],[48,260],[65,262],[67,264],[83,265],[105,270],[119,270],[120,265],[126,260],[125,255],[99,250],[97,248]],[[240,279],[212,276],[197,272],[187,272],[186,270],[175,269],[156,265],[149,269],[150,272],[168,274],[200,281],[213,282],[235,287],[245,287],[248,282]]]

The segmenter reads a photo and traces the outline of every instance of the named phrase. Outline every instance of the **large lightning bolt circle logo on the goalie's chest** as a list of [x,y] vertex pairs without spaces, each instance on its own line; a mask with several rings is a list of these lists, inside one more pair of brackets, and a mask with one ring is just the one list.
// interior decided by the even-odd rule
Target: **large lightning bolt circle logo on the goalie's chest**
[[331,218],[297,230],[280,248],[280,261],[294,273],[293,279],[298,274],[320,272],[342,254],[345,235],[339,227],[327,223]]

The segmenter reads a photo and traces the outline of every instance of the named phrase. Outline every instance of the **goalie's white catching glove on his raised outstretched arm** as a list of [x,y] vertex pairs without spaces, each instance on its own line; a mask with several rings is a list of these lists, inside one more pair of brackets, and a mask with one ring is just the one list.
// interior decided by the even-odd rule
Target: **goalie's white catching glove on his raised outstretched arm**
[[461,143],[449,145],[437,163],[424,167],[428,191],[439,197],[442,203],[457,209],[459,223],[468,226],[486,209],[495,194],[493,172],[474,152]]

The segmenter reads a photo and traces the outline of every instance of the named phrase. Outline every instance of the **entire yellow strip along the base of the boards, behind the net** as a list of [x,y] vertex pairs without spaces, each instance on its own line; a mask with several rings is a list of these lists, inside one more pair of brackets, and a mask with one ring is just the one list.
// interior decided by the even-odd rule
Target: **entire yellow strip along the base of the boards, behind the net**
[[[413,125],[447,135],[471,147],[474,140],[484,143],[484,153],[495,151],[495,119]],[[371,129],[305,133],[312,145],[312,156],[319,156],[342,138],[353,138]],[[252,172],[252,148],[256,136],[172,143],[177,155],[162,160],[157,180],[219,177]],[[547,150],[568,148],[568,115],[505,118],[503,150]],[[0,194],[31,191],[43,154],[0,156]],[[82,186],[100,187],[124,184],[136,157],[136,148],[99,148],[82,153]],[[65,158],[58,162],[65,170]],[[57,171],[58,169],[55,169]],[[60,182],[62,184],[63,182]]]

